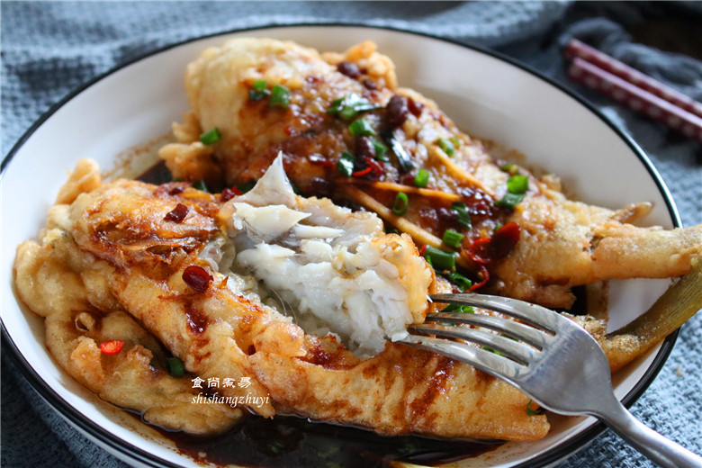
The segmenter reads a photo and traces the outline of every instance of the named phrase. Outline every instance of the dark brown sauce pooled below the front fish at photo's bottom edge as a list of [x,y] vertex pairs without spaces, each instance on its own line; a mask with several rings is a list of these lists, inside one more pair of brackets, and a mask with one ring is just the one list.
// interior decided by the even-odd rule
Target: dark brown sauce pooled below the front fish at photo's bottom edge
[[212,438],[162,431],[180,453],[200,464],[286,468],[374,468],[396,462],[437,466],[494,450],[499,442],[417,436],[383,437],[372,431],[311,422],[293,416],[248,416],[237,428]]

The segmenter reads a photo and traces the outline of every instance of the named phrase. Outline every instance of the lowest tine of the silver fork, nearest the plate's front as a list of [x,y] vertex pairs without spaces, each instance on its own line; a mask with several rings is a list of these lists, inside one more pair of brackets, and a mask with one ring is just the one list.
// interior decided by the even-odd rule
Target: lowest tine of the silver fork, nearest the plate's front
[[519,377],[527,370],[525,366],[507,357],[496,355],[479,347],[472,347],[446,339],[408,335],[406,338],[396,341],[396,343],[419,347],[432,353],[463,361],[514,385],[518,385]]

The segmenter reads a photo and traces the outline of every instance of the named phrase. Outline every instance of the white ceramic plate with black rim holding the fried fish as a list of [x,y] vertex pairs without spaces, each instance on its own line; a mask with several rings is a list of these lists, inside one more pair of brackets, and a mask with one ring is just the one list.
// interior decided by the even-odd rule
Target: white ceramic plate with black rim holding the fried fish
[[[81,157],[114,167],[124,149],[168,133],[187,108],[185,65],[202,49],[231,36],[296,40],[320,50],[344,50],[374,40],[397,65],[401,85],[433,98],[458,126],[517,148],[530,164],[561,175],[585,202],[617,208],[653,202],[646,222],[679,223],[670,194],[635,143],[563,88],[489,52],[426,36],[365,27],[295,26],[193,40],[141,58],[69,96],[23,137],[2,175],[2,321],[7,343],[34,387],[76,428],[132,464],[191,465],[153,429],[98,401],[47,356],[41,320],[15,301],[14,249],[44,223],[67,171]],[[10,229],[12,228],[12,229]],[[645,311],[666,281],[611,285],[617,325]],[[626,298],[626,300],[625,300]],[[615,377],[617,396],[631,404],[653,380],[674,337]],[[544,466],[571,455],[601,427],[594,419],[552,419],[553,430],[532,443],[508,443],[455,466]],[[453,465],[453,464],[452,464]]]

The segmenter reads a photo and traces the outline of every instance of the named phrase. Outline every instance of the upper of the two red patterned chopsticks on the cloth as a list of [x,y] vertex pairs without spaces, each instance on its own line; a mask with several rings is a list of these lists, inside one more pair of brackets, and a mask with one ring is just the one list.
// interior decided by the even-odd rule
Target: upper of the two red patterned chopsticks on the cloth
[[660,81],[653,79],[651,76],[644,75],[644,73],[635,68],[620,62],[617,58],[609,57],[604,52],[591,48],[580,40],[571,40],[563,50],[563,54],[566,58],[582,58],[612,75],[628,81],[632,85],[638,86],[651,94],[655,94],[664,101],[673,103],[687,112],[702,117],[702,103],[698,103],[698,101],[695,101],[688,95],[682,94],[667,85],[663,85]]

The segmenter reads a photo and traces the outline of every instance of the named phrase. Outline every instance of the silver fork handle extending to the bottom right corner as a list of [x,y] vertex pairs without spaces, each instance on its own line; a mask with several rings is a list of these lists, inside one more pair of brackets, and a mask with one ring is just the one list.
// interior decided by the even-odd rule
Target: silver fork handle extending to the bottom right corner
[[598,414],[626,442],[665,468],[702,468],[702,457],[644,425],[617,401],[608,414]]

